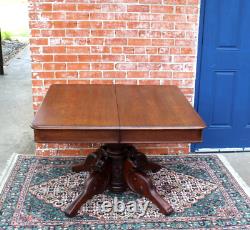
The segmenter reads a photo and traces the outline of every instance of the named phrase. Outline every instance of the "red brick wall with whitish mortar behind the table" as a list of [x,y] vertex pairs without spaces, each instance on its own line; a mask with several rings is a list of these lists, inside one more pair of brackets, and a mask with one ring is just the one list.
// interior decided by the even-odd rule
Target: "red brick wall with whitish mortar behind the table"
[[[33,107],[51,84],[175,84],[193,102],[199,0],[29,0]],[[96,145],[37,144],[38,155]],[[140,145],[147,153],[189,146]]]

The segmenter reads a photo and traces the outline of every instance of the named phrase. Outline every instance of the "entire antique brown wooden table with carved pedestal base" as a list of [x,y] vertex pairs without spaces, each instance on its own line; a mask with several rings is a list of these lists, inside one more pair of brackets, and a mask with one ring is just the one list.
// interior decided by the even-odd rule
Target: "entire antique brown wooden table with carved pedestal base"
[[72,217],[106,189],[129,188],[162,213],[173,212],[145,173],[161,166],[133,144],[200,142],[205,124],[176,86],[52,85],[32,128],[36,142],[103,144],[72,166],[74,172],[90,172],[84,190],[65,210]]

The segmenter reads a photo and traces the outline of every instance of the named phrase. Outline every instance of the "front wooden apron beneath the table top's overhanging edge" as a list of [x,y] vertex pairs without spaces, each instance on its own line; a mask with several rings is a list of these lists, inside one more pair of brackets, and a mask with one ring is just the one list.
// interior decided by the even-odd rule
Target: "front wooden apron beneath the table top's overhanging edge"
[[38,143],[194,143],[202,141],[201,129],[166,130],[51,130],[36,129]]

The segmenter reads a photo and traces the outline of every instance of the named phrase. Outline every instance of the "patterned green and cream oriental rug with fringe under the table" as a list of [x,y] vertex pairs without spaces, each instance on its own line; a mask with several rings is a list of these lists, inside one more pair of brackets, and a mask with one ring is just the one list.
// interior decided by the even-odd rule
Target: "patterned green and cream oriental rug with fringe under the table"
[[150,158],[163,166],[148,174],[174,208],[169,216],[131,191],[106,191],[68,218],[88,176],[71,165],[84,158],[19,155],[0,195],[0,229],[250,229],[249,197],[217,156]]

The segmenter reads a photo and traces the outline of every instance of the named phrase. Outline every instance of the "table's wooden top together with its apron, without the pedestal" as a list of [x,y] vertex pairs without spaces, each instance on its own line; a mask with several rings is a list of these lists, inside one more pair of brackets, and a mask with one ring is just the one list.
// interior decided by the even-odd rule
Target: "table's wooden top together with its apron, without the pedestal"
[[32,123],[48,143],[191,143],[204,127],[176,86],[53,85]]

